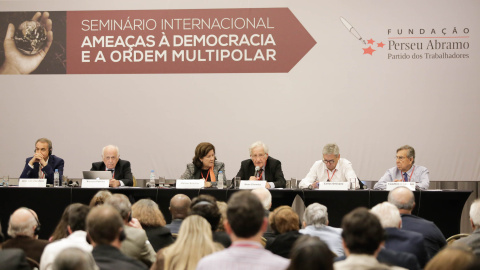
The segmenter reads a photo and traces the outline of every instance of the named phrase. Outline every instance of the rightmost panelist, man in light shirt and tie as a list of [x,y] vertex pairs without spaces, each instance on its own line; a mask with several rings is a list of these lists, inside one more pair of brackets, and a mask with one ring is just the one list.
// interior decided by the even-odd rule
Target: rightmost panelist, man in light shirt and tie
[[430,184],[428,169],[414,165],[415,149],[404,145],[397,149],[397,167],[389,169],[373,187],[374,189],[386,189],[388,182],[416,182],[415,188],[426,190]]

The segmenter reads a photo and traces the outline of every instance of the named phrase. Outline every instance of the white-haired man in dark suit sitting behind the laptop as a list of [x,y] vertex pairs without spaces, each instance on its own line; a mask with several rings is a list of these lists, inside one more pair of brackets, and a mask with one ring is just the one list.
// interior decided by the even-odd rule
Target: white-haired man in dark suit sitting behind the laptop
[[103,161],[92,163],[90,171],[111,171],[111,187],[133,186],[130,162],[120,159],[120,151],[115,145],[107,145],[102,150]]

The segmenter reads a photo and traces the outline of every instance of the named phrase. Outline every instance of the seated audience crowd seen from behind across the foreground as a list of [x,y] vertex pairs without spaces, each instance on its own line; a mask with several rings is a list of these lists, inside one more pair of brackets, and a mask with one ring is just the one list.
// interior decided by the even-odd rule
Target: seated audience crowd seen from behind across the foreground
[[[480,200],[470,209],[474,232],[447,244],[438,227],[412,215],[412,191],[398,187],[372,209],[356,208],[329,225],[327,206],[309,205],[302,220],[290,206],[270,211],[268,189],[170,201],[172,222],[151,199],[133,202],[99,191],[90,206],[69,205],[49,240],[38,239],[29,208],[0,234],[0,269],[478,269]],[[1,228],[0,228],[1,231]]]

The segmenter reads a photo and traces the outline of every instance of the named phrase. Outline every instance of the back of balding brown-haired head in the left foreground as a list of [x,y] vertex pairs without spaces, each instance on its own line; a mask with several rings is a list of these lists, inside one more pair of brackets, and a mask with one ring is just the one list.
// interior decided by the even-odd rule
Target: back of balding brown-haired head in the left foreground
[[123,219],[110,205],[94,207],[87,216],[87,233],[97,245],[110,245],[123,230]]

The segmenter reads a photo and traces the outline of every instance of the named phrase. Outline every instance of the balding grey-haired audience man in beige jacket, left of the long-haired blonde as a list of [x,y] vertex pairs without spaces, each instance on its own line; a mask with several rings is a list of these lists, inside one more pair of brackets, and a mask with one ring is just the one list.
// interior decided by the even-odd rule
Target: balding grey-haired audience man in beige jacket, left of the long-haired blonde
[[105,204],[113,206],[120,213],[125,225],[126,238],[123,240],[120,250],[125,255],[140,260],[147,266],[151,266],[155,262],[155,251],[138,220],[132,218],[132,205],[127,196],[113,194]]

